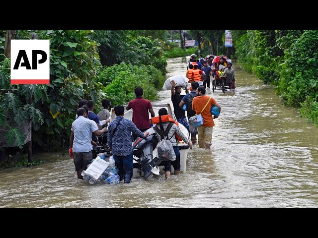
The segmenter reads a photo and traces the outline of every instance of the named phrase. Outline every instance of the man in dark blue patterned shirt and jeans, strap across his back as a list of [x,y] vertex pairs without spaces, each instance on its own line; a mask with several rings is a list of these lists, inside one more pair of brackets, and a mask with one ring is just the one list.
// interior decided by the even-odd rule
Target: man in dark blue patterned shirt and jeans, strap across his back
[[125,179],[124,183],[129,183],[133,177],[133,145],[131,142],[131,132],[141,138],[147,137],[147,134],[129,119],[124,119],[124,107],[118,105],[114,108],[116,119],[108,125],[107,144],[111,148],[120,180]]

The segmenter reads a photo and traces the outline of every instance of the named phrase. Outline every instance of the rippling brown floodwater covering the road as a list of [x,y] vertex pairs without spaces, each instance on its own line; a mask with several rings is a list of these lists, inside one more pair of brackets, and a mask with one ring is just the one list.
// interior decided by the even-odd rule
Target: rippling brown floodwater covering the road
[[[0,207],[317,208],[318,129],[283,107],[272,86],[234,68],[235,92],[208,92],[222,107],[212,149],[189,150],[184,174],[90,185],[68,156],[35,154],[46,163],[0,171]],[[185,75],[185,58],[169,60],[167,70]],[[159,96],[170,101],[170,91]]]

